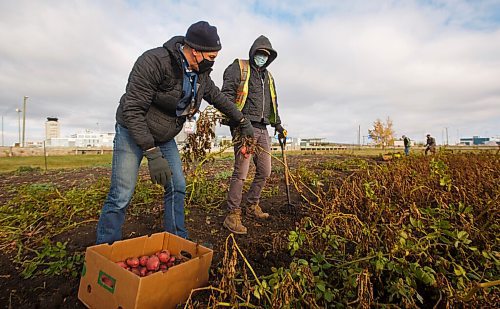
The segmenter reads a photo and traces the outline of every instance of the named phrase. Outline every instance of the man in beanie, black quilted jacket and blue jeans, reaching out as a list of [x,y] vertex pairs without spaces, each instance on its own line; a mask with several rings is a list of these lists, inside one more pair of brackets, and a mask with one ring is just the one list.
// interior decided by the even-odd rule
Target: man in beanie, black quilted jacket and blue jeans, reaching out
[[217,28],[200,21],[185,37],[175,36],[135,62],[116,112],[111,187],[97,224],[97,244],[121,239],[143,156],[151,180],[165,189],[165,230],[187,238],[186,182],[174,137],[202,99],[237,123],[243,136],[253,137],[250,121],[210,78],[220,49]]

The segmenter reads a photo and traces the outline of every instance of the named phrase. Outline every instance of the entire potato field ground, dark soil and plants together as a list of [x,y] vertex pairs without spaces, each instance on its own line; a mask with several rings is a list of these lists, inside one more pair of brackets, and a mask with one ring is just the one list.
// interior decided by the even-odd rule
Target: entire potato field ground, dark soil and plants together
[[[284,208],[276,159],[261,197],[271,218],[243,216],[248,234],[235,235],[242,254],[228,253],[234,243],[226,252],[230,233],[222,226],[233,160],[186,172],[189,238],[214,250],[213,289],[194,295],[188,308],[498,307],[498,153],[290,155],[295,216]],[[84,308],[79,273],[110,172],[1,175],[0,308]],[[162,212],[162,188],[143,167],[123,238],[162,232]]]

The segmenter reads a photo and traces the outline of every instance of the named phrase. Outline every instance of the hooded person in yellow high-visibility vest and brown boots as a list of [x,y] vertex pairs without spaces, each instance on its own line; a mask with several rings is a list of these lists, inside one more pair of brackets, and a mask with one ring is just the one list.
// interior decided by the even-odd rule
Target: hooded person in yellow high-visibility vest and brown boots
[[[247,228],[241,222],[241,200],[243,183],[247,178],[250,161],[255,164],[255,178],[246,198],[246,215],[257,219],[268,219],[269,214],[260,206],[260,195],[271,175],[271,150],[268,126],[274,127],[281,137],[287,132],[281,126],[278,114],[276,86],[267,70],[278,53],[269,39],[259,36],[250,48],[249,59],[236,59],[224,71],[222,92],[237,106],[245,118],[250,119],[254,130],[256,153],[242,154],[239,146],[234,147],[234,171],[229,184],[227,205],[229,213],[224,226],[235,234],[246,234]],[[229,123],[231,134],[235,136],[235,126]],[[259,148],[263,149],[259,151]]]

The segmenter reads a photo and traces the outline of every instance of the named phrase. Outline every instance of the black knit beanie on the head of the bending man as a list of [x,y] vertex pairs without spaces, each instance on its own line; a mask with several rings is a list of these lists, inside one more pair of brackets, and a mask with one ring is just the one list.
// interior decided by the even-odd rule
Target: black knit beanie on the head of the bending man
[[184,43],[199,51],[219,51],[222,48],[217,28],[206,21],[189,26]]

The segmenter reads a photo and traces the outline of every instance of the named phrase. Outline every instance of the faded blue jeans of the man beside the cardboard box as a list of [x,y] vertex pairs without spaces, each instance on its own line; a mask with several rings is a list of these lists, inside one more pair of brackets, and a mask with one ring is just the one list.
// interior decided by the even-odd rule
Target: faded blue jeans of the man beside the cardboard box
[[[97,244],[113,243],[122,238],[125,212],[134,194],[143,157],[142,149],[134,142],[125,127],[116,124],[115,130],[111,187],[97,223]],[[182,172],[177,144],[174,139],[171,139],[157,146],[160,147],[172,170],[172,179],[164,187],[165,231],[187,238],[187,230],[184,226],[186,180]]]

